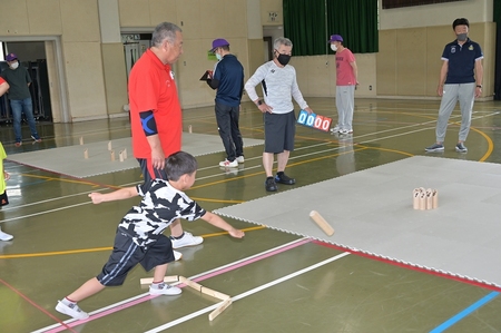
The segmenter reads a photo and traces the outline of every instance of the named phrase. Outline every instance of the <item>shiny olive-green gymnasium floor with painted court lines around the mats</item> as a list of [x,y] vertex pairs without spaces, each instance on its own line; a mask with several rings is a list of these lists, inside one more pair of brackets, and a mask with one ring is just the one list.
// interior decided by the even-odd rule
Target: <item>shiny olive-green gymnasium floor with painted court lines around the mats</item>
[[[307,101],[317,114],[335,118],[334,99]],[[475,104],[468,154],[454,151],[458,111],[451,117],[445,151],[424,153],[434,140],[439,101],[360,99],[355,105],[351,136],[297,127],[296,150],[286,169],[297,183],[281,185],[279,193],[295,189],[301,197],[307,185],[413,156],[501,163],[499,101]],[[217,135],[213,108],[185,110],[186,133],[189,126],[195,134]],[[243,105],[240,129],[244,138],[263,139],[262,116],[252,104]],[[39,131],[42,143],[26,141],[21,148],[13,146],[11,127],[0,128],[0,139],[14,158],[18,153],[55,147],[81,149],[80,137],[89,144],[124,139],[130,128],[124,118],[40,124]],[[264,189],[262,150],[261,145],[246,148],[245,164],[228,170],[217,166],[223,153],[198,156],[197,183],[188,195],[208,210],[266,197],[273,200],[274,194]],[[233,297],[233,304],[214,321],[207,316],[218,300],[187,287],[179,296],[151,298],[139,283],[151,272],[139,266],[122,286],[79,303],[91,313],[90,320],[70,321],[55,311],[57,300],[99,273],[117,223],[137,202],[91,205],[87,194],[135,185],[140,172],[131,168],[78,178],[11,160],[4,166],[11,174],[10,205],[0,209],[1,226],[14,239],[0,242],[0,332],[501,332],[499,287],[347,252],[286,227],[277,231],[234,218],[227,221],[246,231],[243,241],[204,222],[185,222],[185,229],[204,236],[205,242],[181,249],[183,259],[168,268],[168,275],[189,277]],[[348,196],[348,189],[340,186],[332,193]],[[304,203],[310,205],[308,200],[305,195]],[[279,209],[287,204],[281,203]],[[346,218],[342,214],[346,208],[361,209],[356,199],[337,205],[333,199],[328,214],[340,212],[340,221]],[[273,210],[273,206],[264,209]],[[384,216],[381,213],[377,216]],[[337,222],[331,222],[336,228]],[[472,229],[482,222],[472,219]],[[316,228],[313,223],[312,228]],[[487,258],[477,264],[493,265]]]

